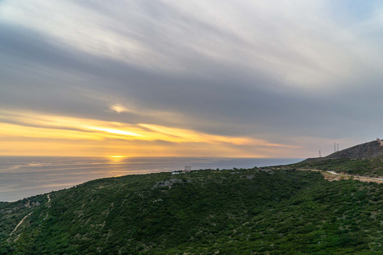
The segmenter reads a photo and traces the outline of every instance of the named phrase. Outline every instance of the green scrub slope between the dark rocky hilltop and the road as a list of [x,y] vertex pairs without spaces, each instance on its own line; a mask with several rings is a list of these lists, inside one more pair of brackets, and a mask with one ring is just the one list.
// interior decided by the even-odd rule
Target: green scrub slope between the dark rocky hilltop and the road
[[291,164],[295,168],[329,170],[334,172],[345,172],[352,175],[363,175],[372,177],[383,176],[383,158],[371,159],[324,159],[316,161],[302,161]]

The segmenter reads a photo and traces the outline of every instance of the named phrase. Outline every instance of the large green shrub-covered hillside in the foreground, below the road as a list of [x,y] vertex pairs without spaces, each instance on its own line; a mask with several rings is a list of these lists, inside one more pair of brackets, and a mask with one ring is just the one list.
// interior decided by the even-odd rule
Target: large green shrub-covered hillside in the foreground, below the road
[[319,172],[128,175],[50,198],[0,203],[0,254],[383,253],[382,185]]

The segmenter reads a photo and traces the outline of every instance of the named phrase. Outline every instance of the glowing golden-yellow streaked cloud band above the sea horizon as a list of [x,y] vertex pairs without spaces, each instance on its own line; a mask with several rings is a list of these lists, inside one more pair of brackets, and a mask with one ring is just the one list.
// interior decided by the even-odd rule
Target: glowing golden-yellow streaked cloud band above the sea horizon
[[[219,136],[194,130],[165,127],[153,124],[129,124],[123,122],[108,122],[93,119],[79,119],[54,115],[44,115],[35,112],[1,112],[0,120],[2,136],[26,136],[62,139],[116,138],[123,140],[163,140],[172,142],[195,142],[234,145],[261,145],[289,147],[294,146],[273,144],[240,136]],[[63,134],[63,135],[60,135]],[[66,135],[65,135],[66,134]],[[71,135],[75,134],[75,135]],[[83,137],[81,135],[83,134]]]

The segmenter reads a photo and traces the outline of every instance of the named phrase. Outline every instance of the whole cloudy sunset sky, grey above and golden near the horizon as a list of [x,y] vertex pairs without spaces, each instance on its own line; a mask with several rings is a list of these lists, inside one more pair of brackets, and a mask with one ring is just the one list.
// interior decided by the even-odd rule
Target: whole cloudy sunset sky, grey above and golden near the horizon
[[0,0],[0,155],[306,158],[383,138],[383,3]]

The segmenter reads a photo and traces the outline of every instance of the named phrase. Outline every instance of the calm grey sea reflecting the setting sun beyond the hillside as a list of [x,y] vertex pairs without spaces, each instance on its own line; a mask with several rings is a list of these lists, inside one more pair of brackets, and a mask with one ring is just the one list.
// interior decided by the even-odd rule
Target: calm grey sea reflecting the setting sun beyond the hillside
[[105,177],[195,169],[278,166],[303,158],[0,156],[0,201],[17,201]]

